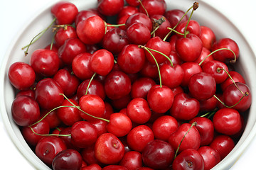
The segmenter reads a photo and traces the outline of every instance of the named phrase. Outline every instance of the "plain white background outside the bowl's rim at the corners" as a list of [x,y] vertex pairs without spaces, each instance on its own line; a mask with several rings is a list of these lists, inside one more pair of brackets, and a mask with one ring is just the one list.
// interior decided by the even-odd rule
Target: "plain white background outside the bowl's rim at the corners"
[[[43,8],[48,2],[53,0],[8,0],[1,1],[1,26],[0,26],[0,63],[4,57],[4,53],[8,48],[12,39],[14,39],[18,29],[21,28],[29,18],[36,14],[38,9]],[[86,0],[85,0],[86,1]],[[171,1],[171,0],[166,0]],[[173,0],[174,1],[174,0]],[[225,13],[228,18],[238,26],[244,33],[245,37],[252,44],[252,48],[256,50],[256,34],[255,34],[255,0],[207,0],[213,6]],[[210,19],[210,18],[209,18]],[[1,94],[0,94],[1,95]],[[33,169],[33,167],[23,158],[20,152],[11,142],[9,136],[4,129],[4,125],[0,116],[0,169]],[[252,141],[238,159],[238,162],[232,167],[233,170],[238,169],[254,169],[256,156],[256,138]]]

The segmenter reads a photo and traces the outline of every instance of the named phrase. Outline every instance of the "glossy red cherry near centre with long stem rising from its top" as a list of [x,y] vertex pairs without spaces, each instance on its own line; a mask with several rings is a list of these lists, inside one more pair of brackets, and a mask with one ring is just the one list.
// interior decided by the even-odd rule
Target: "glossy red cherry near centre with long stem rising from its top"
[[174,102],[174,93],[167,86],[152,86],[147,95],[147,101],[152,111],[165,113]]

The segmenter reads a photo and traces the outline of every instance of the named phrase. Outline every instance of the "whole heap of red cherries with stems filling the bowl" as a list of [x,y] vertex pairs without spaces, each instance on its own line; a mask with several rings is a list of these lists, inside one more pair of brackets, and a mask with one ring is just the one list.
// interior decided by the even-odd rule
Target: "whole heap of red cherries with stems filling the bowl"
[[15,123],[53,169],[211,169],[251,105],[237,43],[193,20],[198,3],[126,2],[51,8],[53,40],[9,68]]

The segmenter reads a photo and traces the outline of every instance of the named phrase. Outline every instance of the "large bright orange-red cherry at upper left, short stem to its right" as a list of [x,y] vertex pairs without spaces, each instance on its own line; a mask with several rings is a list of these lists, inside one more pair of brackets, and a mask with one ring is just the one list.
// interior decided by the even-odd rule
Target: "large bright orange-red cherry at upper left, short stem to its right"
[[97,44],[104,38],[105,21],[100,16],[90,16],[78,23],[76,31],[78,38],[85,44]]

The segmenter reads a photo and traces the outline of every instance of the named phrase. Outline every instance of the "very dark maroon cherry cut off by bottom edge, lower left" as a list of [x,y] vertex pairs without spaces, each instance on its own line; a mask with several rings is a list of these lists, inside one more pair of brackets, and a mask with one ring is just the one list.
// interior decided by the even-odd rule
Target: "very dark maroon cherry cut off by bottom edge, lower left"
[[80,170],[82,166],[82,157],[80,153],[74,149],[65,149],[55,156],[52,166],[54,170]]

